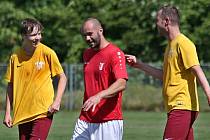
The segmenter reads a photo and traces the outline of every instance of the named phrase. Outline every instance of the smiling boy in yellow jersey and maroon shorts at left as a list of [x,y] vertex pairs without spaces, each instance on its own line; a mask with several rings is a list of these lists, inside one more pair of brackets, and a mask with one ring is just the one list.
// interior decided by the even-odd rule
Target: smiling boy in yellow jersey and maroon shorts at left
[[[47,138],[67,81],[56,53],[40,42],[42,29],[37,20],[22,21],[22,48],[11,55],[5,76],[8,86],[4,124],[9,128],[18,125],[21,140]],[[59,80],[54,98],[55,76]]]

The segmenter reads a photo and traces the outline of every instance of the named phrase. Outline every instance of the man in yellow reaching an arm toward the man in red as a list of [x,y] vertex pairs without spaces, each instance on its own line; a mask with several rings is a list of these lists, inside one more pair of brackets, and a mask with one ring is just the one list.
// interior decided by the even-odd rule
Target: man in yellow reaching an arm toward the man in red
[[199,65],[195,45],[180,32],[179,13],[173,6],[157,12],[156,24],[160,35],[168,39],[163,70],[156,69],[135,56],[127,55],[128,63],[163,80],[163,97],[168,111],[164,140],[193,140],[193,123],[199,111],[196,78],[210,104],[210,88]]

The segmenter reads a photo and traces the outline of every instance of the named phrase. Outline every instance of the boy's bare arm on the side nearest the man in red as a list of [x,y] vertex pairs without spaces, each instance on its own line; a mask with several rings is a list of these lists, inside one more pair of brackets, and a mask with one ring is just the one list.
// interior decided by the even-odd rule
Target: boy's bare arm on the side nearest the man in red
[[53,114],[59,111],[61,99],[66,87],[67,78],[64,73],[58,75],[59,81],[58,81],[58,88],[57,88],[57,95],[53,102],[53,104],[49,107],[48,111],[49,113]]

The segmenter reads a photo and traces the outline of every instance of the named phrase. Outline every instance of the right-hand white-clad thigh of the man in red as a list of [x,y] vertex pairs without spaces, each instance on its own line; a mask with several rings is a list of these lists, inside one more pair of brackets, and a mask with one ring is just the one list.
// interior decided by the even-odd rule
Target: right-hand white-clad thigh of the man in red
[[91,140],[122,140],[123,120],[112,120],[92,126]]

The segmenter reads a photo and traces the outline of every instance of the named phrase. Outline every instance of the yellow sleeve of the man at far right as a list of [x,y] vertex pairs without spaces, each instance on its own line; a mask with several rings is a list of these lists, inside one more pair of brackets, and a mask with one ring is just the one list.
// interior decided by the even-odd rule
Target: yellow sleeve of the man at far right
[[182,44],[180,44],[179,49],[185,69],[189,69],[195,65],[200,65],[196,47],[192,42],[183,41]]

